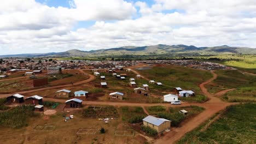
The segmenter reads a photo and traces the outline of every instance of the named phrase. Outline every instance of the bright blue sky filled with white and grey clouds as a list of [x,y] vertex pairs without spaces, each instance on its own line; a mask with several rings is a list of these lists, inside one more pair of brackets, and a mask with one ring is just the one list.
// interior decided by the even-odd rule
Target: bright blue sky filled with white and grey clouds
[[255,0],[8,0],[0,55],[185,44],[256,47]]

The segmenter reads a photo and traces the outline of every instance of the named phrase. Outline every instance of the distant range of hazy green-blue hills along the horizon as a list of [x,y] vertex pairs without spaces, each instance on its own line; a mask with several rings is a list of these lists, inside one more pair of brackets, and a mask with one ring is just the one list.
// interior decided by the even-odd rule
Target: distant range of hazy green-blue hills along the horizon
[[66,52],[27,53],[20,55],[3,55],[0,57],[97,57],[121,55],[171,55],[171,56],[202,56],[223,54],[256,54],[256,49],[249,47],[230,47],[228,45],[214,47],[196,47],[193,45],[152,45],[152,46],[123,46],[112,49],[92,51],[69,50]]

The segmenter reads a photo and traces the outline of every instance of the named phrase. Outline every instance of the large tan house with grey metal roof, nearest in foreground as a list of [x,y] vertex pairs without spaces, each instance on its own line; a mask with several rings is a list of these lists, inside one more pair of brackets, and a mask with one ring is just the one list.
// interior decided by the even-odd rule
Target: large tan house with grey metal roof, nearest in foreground
[[158,133],[171,128],[171,121],[165,118],[147,116],[146,118],[142,119],[142,121],[144,126],[153,128],[158,131]]

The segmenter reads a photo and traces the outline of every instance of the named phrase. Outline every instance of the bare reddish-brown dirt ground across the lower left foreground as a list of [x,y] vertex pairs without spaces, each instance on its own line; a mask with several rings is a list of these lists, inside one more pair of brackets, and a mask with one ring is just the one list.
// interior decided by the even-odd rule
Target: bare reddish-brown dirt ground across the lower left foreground
[[[102,110],[104,106],[101,105]],[[118,111],[117,107],[113,109]],[[133,109],[133,108],[131,108]],[[109,111],[110,113],[110,111]],[[74,115],[74,119],[63,121],[63,115]],[[2,119],[2,118],[1,118]],[[18,118],[17,118],[18,119]],[[23,119],[22,119],[23,120]],[[129,124],[121,117],[110,119],[108,123],[98,118],[84,117],[82,111],[56,113],[45,120],[40,113],[27,119],[26,127],[8,128],[0,125],[0,139],[3,143],[144,143],[144,137],[136,135]],[[35,129],[36,128],[36,129]],[[101,134],[104,128],[106,133]],[[125,131],[125,135],[115,135],[116,131]],[[79,131],[79,133],[78,133]],[[119,131],[119,132],[120,132]],[[63,135],[68,133],[68,135]],[[77,134],[78,133],[78,134]],[[134,135],[133,135],[134,134]],[[141,142],[143,140],[143,142]]]

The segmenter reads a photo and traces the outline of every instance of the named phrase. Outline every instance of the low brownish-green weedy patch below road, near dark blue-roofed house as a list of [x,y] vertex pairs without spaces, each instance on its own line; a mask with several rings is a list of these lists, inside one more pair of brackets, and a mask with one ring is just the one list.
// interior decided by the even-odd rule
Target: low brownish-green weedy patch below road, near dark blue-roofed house
[[101,109],[84,109],[83,116],[89,118],[117,118],[118,110],[114,106],[102,106]]

